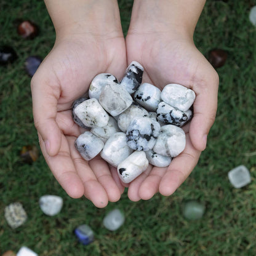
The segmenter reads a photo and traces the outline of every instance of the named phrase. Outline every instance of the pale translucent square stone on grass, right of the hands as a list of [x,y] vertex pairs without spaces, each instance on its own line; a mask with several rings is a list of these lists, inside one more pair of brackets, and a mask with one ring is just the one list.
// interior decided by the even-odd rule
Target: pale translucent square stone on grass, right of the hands
[[228,179],[235,188],[242,188],[250,183],[250,172],[245,166],[238,166],[228,172]]

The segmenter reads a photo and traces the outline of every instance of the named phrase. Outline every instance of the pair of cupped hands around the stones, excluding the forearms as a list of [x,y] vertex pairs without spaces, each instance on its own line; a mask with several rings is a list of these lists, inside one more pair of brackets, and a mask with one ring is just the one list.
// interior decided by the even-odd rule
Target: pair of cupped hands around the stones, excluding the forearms
[[[180,28],[162,29],[130,23],[126,39],[121,25],[101,31],[84,24],[57,33],[53,49],[31,81],[34,124],[42,154],[60,185],[72,198],[85,196],[97,207],[121,198],[125,187],[132,201],[155,193],[170,196],[196,166],[206,148],[207,134],[217,110],[218,75],[194,46],[193,36]],[[162,90],[177,83],[196,93],[194,116],[183,129],[185,150],[169,167],[148,166],[129,185],[119,180],[115,167],[98,155],[85,161],[74,148],[84,129],[74,123],[71,105],[99,73],[121,79],[133,60],[144,68],[143,82]]]

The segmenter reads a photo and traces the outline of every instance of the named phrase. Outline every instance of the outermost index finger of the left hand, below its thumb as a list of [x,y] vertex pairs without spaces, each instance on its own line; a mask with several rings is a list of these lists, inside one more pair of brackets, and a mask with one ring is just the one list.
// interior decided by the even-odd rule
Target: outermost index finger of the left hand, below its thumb
[[71,198],[81,198],[84,194],[84,186],[80,177],[76,174],[73,161],[70,158],[68,142],[65,140],[64,135],[60,151],[55,156],[49,156],[49,154],[47,154],[41,135],[39,135],[39,143],[42,154],[52,174],[54,174],[54,177],[57,179],[58,183],[60,183],[63,190],[65,190]]

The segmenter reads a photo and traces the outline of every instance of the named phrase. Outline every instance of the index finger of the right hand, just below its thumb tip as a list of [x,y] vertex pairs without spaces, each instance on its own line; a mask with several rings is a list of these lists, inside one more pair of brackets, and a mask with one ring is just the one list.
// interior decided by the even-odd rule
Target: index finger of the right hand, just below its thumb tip
[[185,150],[172,160],[159,184],[159,192],[163,196],[170,196],[182,185],[196,166],[200,154],[201,151],[194,148],[189,135],[186,134]]

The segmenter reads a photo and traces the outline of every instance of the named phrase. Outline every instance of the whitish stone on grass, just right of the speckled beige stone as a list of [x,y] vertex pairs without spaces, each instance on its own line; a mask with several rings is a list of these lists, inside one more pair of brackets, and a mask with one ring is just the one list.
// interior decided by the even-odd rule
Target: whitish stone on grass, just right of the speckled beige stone
[[63,199],[60,196],[46,194],[39,199],[39,206],[44,214],[54,216],[62,209]]

